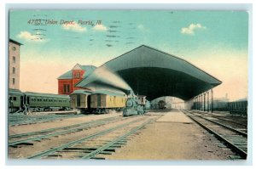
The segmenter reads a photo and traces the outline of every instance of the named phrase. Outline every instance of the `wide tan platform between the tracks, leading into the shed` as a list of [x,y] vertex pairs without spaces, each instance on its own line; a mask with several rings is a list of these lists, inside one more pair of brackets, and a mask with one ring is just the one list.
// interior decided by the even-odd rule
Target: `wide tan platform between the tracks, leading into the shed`
[[[152,112],[154,113],[154,112]],[[164,115],[163,115],[164,114]],[[148,113],[150,115],[150,112]],[[217,138],[179,110],[161,113],[107,160],[229,160],[234,155]]]

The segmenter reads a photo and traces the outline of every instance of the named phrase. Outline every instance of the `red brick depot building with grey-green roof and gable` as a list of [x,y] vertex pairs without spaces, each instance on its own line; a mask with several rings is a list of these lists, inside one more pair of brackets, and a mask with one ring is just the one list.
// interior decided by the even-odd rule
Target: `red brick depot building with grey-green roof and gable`
[[89,76],[95,69],[94,65],[75,65],[72,70],[58,77],[58,93],[70,94],[80,89],[80,87],[75,87],[75,84]]

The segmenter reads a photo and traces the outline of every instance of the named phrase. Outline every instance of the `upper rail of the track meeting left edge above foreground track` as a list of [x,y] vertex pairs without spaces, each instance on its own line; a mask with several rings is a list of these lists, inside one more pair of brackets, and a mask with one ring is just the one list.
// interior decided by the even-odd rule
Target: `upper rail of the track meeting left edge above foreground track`
[[112,120],[115,117],[108,117],[108,118],[104,118],[104,119],[99,119],[96,121],[88,121],[88,122],[83,122],[83,123],[79,123],[79,124],[74,124],[74,125],[70,125],[70,126],[66,126],[66,127],[54,127],[54,128],[49,128],[49,129],[45,129],[45,130],[41,130],[41,131],[36,131],[36,132],[24,132],[24,133],[20,133],[20,134],[14,134],[14,135],[10,135],[9,138],[21,138],[24,136],[31,136],[32,134],[42,134],[44,132],[52,132],[55,130],[60,130],[60,129],[68,129],[68,128],[72,128],[72,127],[79,127],[81,125],[89,125],[89,124],[93,124],[97,121],[108,121],[108,120]]

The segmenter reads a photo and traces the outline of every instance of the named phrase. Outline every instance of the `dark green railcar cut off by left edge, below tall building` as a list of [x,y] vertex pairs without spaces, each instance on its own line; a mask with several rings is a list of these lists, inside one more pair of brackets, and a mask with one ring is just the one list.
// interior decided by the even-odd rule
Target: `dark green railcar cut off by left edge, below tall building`
[[23,96],[24,94],[18,89],[9,88],[8,99],[9,99],[9,112],[15,113],[23,109]]

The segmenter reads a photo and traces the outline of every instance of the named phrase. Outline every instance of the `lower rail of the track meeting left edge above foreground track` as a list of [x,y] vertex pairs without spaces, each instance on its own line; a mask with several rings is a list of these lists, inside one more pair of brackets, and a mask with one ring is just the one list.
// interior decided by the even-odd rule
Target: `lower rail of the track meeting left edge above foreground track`
[[[119,119],[113,119],[113,121],[119,121]],[[58,135],[66,134],[66,133],[69,133],[69,132],[78,132],[82,129],[105,125],[105,124],[108,124],[108,123],[113,122],[113,121],[96,121],[95,123],[92,123],[92,124],[82,125],[81,127],[68,129],[68,130],[65,130],[65,131],[62,131],[62,132],[54,132],[54,133],[46,134],[44,136],[38,136],[38,137],[34,137],[34,138],[26,138],[26,139],[18,140],[18,141],[15,141],[15,142],[11,142],[11,143],[9,143],[9,146],[14,146],[16,144],[24,144],[24,143],[27,143],[27,142],[40,140],[40,139],[43,139],[43,138],[50,138],[50,137],[53,137],[53,136],[58,136]]]

